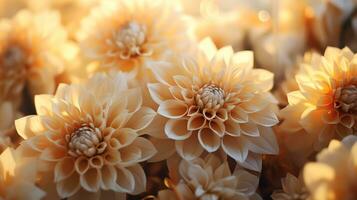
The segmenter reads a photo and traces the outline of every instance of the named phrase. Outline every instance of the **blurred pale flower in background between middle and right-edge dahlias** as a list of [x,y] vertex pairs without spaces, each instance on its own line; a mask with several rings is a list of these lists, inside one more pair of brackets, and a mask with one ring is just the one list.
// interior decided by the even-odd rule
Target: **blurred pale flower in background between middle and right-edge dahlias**
[[257,64],[280,81],[284,69],[293,66],[296,56],[305,50],[306,4],[294,0],[271,2],[270,12],[257,12],[260,23],[249,29],[249,41]]

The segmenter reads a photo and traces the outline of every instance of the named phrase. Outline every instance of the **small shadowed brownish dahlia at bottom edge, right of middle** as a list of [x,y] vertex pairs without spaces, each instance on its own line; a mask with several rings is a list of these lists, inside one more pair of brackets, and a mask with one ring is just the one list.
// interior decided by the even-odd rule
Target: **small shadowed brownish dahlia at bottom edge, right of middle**
[[271,195],[273,200],[306,200],[309,197],[302,176],[297,178],[288,173],[281,179],[281,185],[282,190],[274,191]]

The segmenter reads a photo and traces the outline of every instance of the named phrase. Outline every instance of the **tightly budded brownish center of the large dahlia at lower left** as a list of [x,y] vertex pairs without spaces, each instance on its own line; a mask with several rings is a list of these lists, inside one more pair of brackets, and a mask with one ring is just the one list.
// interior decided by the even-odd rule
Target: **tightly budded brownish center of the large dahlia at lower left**
[[105,151],[107,144],[103,141],[102,134],[93,125],[83,124],[76,131],[66,136],[68,153],[71,156],[92,157]]

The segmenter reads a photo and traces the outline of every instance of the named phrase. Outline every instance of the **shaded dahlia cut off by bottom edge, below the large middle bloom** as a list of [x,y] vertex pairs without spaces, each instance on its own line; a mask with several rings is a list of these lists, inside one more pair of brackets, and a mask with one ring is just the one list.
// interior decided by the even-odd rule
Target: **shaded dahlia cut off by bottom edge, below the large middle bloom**
[[[205,159],[182,160],[177,184],[166,180],[170,189],[160,191],[158,200],[231,200],[261,199],[256,194],[259,178],[242,170],[232,173],[228,162],[214,154]],[[176,182],[176,181],[174,181]]]

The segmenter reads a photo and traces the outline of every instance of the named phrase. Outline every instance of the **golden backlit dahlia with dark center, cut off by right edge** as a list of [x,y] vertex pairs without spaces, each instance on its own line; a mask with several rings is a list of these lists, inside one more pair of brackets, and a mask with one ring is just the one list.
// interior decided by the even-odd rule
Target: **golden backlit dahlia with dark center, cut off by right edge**
[[[285,132],[306,131],[316,150],[333,138],[356,134],[357,56],[329,47],[323,57],[296,75],[299,90],[281,111]],[[305,144],[310,141],[305,141]]]

